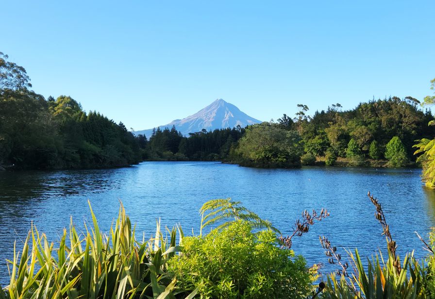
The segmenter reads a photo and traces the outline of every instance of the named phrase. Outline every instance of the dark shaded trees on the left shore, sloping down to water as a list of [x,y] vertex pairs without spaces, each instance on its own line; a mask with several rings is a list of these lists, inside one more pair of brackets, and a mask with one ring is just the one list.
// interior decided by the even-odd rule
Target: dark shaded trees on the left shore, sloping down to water
[[0,54],[0,166],[89,168],[142,160],[138,138],[122,123],[85,113],[67,96],[56,100],[28,89],[23,67]]

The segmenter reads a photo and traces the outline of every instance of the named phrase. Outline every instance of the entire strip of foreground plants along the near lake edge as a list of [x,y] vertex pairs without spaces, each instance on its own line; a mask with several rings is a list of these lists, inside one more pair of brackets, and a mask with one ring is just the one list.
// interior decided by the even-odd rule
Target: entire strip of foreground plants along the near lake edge
[[165,234],[158,221],[154,235],[137,240],[121,204],[107,232],[92,209],[83,234],[71,220],[56,243],[32,226],[22,250],[14,249],[8,262],[10,282],[0,298],[435,298],[435,231],[429,244],[421,239],[428,250],[424,263],[413,253],[401,260],[380,202],[368,198],[387,256],[380,252],[365,261],[369,254],[354,249],[345,258],[347,249],[319,236],[334,273],[320,276],[323,261],[307,265],[291,249],[295,237],[329,216],[325,209],[304,211],[293,234],[283,236],[240,202],[215,199],[200,210],[199,234],[186,236],[180,226]]

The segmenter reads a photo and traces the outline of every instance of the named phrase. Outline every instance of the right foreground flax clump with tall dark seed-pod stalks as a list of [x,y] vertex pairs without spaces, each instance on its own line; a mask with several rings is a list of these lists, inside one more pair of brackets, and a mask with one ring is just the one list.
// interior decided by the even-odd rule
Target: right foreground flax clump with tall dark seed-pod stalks
[[[368,193],[369,199],[376,207],[376,219],[383,227],[383,234],[387,239],[388,258],[385,260],[382,252],[372,260],[367,259],[367,267],[364,267],[358,249],[354,254],[347,251],[350,256],[350,265],[353,269],[349,273],[348,264],[341,263],[341,256],[335,253],[335,248],[322,246],[328,251],[327,256],[332,256],[339,262],[343,270],[337,275],[332,273],[328,276],[327,288],[322,298],[332,299],[423,299],[426,298],[426,272],[422,265],[413,256],[413,252],[407,254],[401,263],[396,254],[396,242],[392,239],[389,227],[381,204]],[[329,241],[328,241],[329,242]],[[329,252],[329,254],[328,254]],[[332,260],[330,263],[334,264]]]

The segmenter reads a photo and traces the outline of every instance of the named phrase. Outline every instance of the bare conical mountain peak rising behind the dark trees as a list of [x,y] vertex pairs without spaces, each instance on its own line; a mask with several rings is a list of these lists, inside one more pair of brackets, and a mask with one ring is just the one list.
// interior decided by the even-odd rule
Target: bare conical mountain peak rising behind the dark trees
[[[215,129],[233,128],[237,125],[246,127],[260,122],[260,120],[243,113],[233,104],[218,99],[191,116],[175,119],[167,125],[159,127],[163,130],[175,126],[178,131],[187,136],[189,133],[200,132],[202,129],[213,131]],[[136,135],[145,134],[147,138],[150,138],[151,133],[152,129],[134,132]]]

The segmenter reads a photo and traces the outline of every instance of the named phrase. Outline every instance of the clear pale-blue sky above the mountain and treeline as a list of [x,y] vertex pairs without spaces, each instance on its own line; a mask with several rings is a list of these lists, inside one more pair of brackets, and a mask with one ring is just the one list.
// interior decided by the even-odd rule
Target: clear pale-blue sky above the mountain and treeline
[[1,3],[33,90],[149,129],[222,98],[260,120],[431,93],[435,1]]

